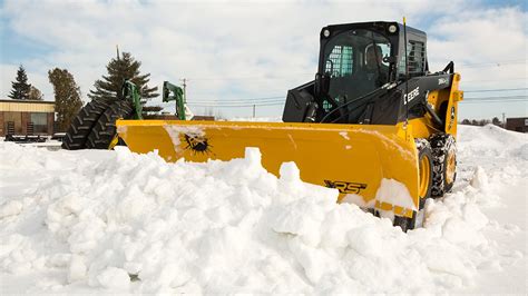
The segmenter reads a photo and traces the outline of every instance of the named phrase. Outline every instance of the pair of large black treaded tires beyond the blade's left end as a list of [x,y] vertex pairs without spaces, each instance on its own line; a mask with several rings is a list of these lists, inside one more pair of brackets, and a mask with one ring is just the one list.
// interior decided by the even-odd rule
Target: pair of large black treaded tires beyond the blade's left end
[[91,100],[71,121],[62,140],[62,148],[110,149],[117,132],[116,120],[130,119],[133,116],[134,108],[129,101]]

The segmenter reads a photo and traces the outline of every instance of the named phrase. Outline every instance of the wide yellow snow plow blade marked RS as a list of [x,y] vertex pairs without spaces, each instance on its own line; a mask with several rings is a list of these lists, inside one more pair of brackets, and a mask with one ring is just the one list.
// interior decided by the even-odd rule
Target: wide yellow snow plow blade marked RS
[[[382,179],[393,179],[419,205],[417,149],[410,126],[179,120],[118,120],[118,135],[134,152],[158,150],[167,161],[243,158],[257,147],[275,176],[294,161],[306,182],[338,188],[339,200],[358,195],[378,209],[412,217],[411,208],[377,201]],[[358,197],[354,197],[358,198]]]

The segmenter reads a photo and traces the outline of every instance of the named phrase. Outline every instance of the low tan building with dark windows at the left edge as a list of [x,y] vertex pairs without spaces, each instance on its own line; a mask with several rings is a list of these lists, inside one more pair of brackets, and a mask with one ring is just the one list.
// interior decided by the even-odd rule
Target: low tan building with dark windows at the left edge
[[55,101],[0,100],[0,137],[53,135]]

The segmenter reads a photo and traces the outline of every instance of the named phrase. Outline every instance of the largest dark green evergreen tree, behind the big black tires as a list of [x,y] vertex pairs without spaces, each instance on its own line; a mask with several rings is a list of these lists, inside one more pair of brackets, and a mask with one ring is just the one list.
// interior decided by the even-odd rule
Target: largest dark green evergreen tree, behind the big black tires
[[95,90],[90,90],[88,97],[92,100],[99,98],[110,100],[123,99],[121,87],[124,81],[128,79],[139,89],[139,93],[143,98],[141,103],[144,106],[144,115],[151,115],[153,112],[160,111],[163,109],[160,107],[145,107],[145,103],[148,99],[158,96],[156,92],[158,88],[149,88],[147,86],[148,81],[150,80],[150,73],[140,75],[140,66],[141,62],[135,60],[129,52],[123,52],[123,55],[119,56],[118,51],[117,58],[111,59],[106,66],[108,75],[104,75],[102,79],[96,80],[94,83]]

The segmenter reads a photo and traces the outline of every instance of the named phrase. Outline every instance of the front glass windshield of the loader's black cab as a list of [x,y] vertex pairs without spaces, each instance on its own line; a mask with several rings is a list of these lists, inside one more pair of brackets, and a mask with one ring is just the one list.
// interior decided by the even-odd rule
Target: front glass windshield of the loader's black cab
[[[350,30],[334,36],[324,48],[324,72],[330,75],[329,95],[344,103],[380,88],[389,80],[391,43],[371,30]],[[331,106],[324,106],[329,109]],[[327,105],[327,102],[326,102]]]

